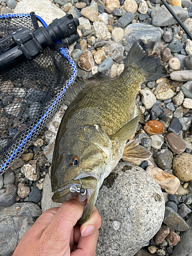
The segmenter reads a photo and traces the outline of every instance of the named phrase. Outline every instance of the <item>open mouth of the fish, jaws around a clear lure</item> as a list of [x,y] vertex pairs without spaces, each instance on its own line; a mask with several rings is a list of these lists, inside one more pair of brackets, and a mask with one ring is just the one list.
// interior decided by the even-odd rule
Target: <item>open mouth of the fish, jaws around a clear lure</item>
[[[70,191],[71,185],[75,185],[77,188],[80,188],[81,187],[80,181],[81,181],[82,187],[86,189],[86,195],[84,196],[81,195],[81,193]],[[83,178],[77,177],[74,180],[70,182],[66,182],[65,184],[57,188],[54,191],[54,195],[52,196],[52,201],[56,203],[63,203],[75,197],[80,203],[87,200],[81,219],[80,221],[78,221],[78,223],[82,224],[84,222],[84,221],[81,222],[82,219],[89,218],[89,217],[87,218],[87,215],[90,212],[90,204],[91,204],[91,201],[93,200],[96,189],[97,189],[97,179],[95,176],[89,175],[87,177],[84,176]]]

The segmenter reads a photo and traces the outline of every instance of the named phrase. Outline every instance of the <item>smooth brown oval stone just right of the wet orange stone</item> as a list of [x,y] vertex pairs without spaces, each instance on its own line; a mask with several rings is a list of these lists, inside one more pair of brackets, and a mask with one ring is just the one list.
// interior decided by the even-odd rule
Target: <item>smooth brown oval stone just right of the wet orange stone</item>
[[185,142],[175,133],[168,133],[165,136],[165,141],[173,153],[181,154],[185,151]]

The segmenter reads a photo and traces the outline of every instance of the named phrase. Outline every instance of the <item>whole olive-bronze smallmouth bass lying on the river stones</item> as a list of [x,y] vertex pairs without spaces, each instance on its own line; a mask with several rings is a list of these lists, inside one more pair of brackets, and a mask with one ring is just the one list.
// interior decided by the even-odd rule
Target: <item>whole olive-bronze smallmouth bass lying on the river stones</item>
[[[125,143],[136,132],[142,116],[135,102],[140,84],[166,75],[160,61],[149,57],[142,41],[137,41],[119,77],[111,80],[99,74],[88,80],[77,78],[67,89],[64,98],[68,109],[56,136],[51,166],[52,200],[87,199],[79,224],[89,219],[103,180],[122,155],[137,160],[151,157],[137,141]],[[72,191],[74,187],[78,191]],[[79,193],[80,188],[86,194]]]

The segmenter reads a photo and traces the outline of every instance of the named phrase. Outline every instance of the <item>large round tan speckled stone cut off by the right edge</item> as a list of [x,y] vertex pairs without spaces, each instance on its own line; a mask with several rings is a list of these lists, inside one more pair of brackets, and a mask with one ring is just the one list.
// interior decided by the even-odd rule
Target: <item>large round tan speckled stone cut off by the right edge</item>
[[192,180],[192,156],[188,153],[177,155],[173,159],[173,172],[181,181]]

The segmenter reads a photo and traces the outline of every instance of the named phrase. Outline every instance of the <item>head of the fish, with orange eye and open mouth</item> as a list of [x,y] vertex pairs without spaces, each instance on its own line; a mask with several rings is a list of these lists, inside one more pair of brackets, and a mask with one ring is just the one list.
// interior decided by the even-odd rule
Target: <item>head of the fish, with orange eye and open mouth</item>
[[[54,202],[62,203],[78,196],[87,199],[78,223],[91,216],[99,188],[111,163],[111,140],[98,125],[85,125],[76,133],[68,133],[55,146],[51,167],[51,184]],[[86,189],[86,195],[70,187]]]

